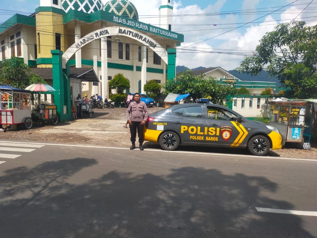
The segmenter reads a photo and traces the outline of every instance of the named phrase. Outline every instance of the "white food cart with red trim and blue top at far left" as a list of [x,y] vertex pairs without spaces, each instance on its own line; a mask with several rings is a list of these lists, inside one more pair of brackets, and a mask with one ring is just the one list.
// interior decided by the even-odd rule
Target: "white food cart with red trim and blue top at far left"
[[33,125],[31,119],[31,92],[6,85],[0,85],[0,124],[6,129],[10,125],[24,124],[27,129]]

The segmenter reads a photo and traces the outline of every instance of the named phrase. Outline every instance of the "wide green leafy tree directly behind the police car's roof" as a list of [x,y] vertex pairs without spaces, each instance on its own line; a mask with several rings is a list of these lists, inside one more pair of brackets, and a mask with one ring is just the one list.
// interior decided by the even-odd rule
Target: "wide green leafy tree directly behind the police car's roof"
[[235,91],[233,83],[222,85],[215,78],[205,78],[204,74],[196,76],[189,69],[166,82],[163,88],[167,93],[188,93],[194,100],[208,97],[211,98],[212,103],[220,105],[223,105],[226,97]]

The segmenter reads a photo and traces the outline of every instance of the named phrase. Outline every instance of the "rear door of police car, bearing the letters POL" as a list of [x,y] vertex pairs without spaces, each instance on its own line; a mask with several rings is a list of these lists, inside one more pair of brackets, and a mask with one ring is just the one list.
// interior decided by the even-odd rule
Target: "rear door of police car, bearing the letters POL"
[[183,106],[170,111],[173,128],[182,142],[204,143],[206,120],[203,105]]

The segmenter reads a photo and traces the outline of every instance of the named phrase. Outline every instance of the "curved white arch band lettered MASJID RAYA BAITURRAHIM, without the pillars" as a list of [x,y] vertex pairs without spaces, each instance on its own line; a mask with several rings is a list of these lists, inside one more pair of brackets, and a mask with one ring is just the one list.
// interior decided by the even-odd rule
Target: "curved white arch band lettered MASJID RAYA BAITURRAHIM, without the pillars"
[[86,36],[82,37],[80,40],[76,41],[74,44],[72,44],[62,56],[63,68],[66,67],[66,63],[68,62],[70,57],[72,57],[76,53],[76,51],[81,49],[81,47],[87,45],[94,40],[98,40],[107,36],[126,36],[132,38],[142,43],[143,45],[148,46],[156,54],[158,54],[166,64],[168,64],[167,51],[153,38],[131,28],[122,26],[110,26],[92,31]]

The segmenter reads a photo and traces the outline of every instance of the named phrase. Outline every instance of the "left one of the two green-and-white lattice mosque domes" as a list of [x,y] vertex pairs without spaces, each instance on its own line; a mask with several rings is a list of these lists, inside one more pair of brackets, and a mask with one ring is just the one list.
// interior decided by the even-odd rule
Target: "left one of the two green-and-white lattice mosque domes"
[[99,11],[103,8],[101,0],[62,0],[61,9],[65,12],[77,10],[86,13]]

